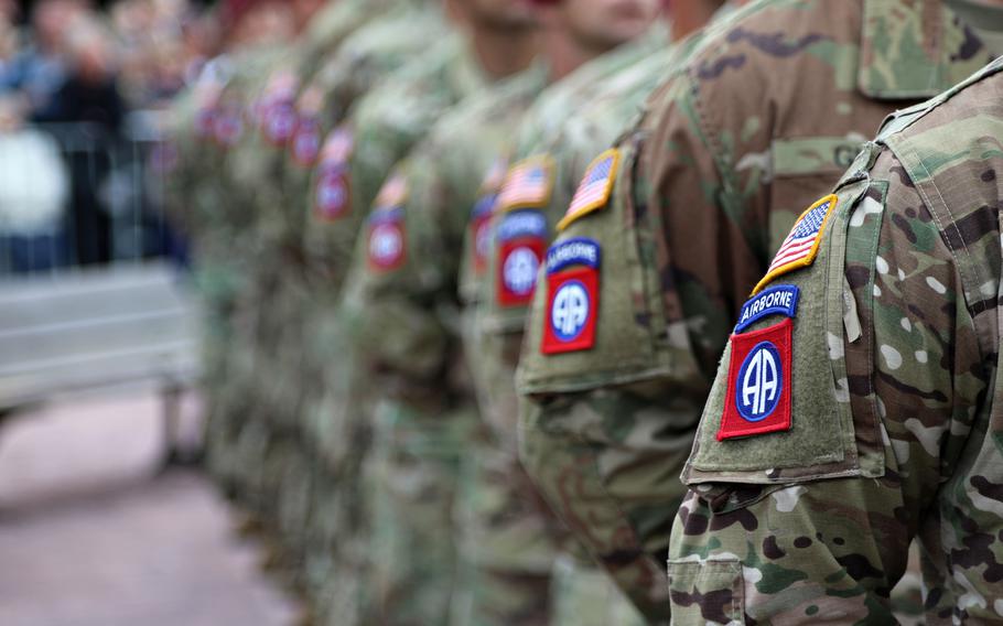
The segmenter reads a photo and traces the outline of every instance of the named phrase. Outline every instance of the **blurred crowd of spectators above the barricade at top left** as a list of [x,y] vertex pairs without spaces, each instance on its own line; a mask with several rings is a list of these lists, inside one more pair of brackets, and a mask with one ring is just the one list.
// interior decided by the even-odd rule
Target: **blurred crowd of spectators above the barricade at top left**
[[0,91],[29,121],[118,128],[130,109],[162,108],[215,53],[218,28],[188,0],[0,2]]

